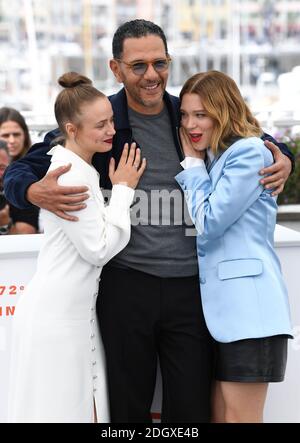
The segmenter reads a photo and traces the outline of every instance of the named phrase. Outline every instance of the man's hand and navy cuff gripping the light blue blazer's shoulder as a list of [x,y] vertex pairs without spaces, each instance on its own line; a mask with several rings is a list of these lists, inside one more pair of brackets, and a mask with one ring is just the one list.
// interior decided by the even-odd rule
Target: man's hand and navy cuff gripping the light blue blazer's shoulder
[[283,191],[285,182],[295,167],[294,156],[284,143],[278,143],[271,135],[263,134],[262,139],[273,154],[274,164],[260,171],[261,175],[268,175],[260,183],[266,189],[274,189],[272,195]]

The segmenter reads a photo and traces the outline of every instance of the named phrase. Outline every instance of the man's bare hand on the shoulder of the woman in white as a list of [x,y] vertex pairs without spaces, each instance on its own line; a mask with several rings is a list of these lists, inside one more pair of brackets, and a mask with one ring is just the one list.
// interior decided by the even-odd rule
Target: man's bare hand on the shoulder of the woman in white
[[61,166],[50,171],[40,181],[30,185],[26,193],[27,200],[65,220],[78,221],[78,217],[71,216],[67,212],[79,211],[86,207],[83,202],[89,197],[86,194],[88,188],[86,186],[59,186],[57,184],[58,177],[68,172],[70,168],[71,165]]

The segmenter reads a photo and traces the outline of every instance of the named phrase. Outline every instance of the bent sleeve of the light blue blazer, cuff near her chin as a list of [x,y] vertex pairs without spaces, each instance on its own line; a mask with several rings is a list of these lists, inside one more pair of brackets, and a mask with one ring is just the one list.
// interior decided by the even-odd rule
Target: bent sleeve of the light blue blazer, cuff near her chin
[[259,170],[265,166],[261,147],[243,143],[228,154],[215,189],[203,166],[186,169],[175,177],[184,191],[189,214],[203,240],[222,236],[259,198],[264,191],[259,183]]

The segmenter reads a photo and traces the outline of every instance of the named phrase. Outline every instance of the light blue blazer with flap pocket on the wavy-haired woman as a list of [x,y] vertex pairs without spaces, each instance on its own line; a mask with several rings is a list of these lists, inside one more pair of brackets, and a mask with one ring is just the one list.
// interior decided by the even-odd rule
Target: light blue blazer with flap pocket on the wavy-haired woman
[[277,204],[259,184],[273,163],[261,139],[233,143],[207,171],[175,179],[197,229],[203,311],[219,342],[292,334],[289,302],[274,251]]

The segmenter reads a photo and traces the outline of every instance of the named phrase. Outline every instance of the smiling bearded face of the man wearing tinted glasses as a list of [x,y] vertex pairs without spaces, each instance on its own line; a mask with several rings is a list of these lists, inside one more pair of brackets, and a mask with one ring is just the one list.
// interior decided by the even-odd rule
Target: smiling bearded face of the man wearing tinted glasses
[[143,75],[137,75],[128,63],[153,62],[166,58],[164,43],[156,35],[124,40],[121,61],[111,60],[110,67],[118,82],[124,84],[130,108],[141,114],[158,114],[163,109],[168,69],[158,73],[149,64]]

